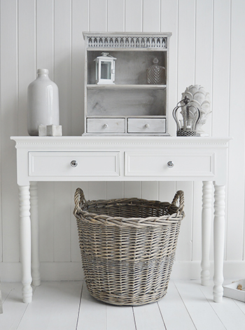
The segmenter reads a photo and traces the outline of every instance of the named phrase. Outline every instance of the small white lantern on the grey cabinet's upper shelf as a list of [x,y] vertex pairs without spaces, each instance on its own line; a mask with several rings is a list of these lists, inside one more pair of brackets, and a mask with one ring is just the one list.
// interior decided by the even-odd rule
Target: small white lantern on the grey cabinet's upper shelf
[[102,56],[98,56],[94,61],[97,85],[113,85],[116,57],[109,55],[109,52],[102,52]]

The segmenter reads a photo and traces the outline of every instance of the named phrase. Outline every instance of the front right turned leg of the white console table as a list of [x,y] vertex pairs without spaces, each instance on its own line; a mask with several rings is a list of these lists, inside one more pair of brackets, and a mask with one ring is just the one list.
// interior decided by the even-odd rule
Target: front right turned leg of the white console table
[[214,301],[223,299],[223,259],[225,245],[225,186],[214,183]]

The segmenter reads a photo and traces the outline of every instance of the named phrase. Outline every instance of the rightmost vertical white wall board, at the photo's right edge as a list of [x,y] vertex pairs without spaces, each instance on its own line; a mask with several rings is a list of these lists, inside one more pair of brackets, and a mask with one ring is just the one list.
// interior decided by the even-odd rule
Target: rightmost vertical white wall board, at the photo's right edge
[[245,105],[245,13],[244,1],[232,1],[230,65],[230,142],[228,182],[228,224],[226,258],[244,258],[244,122]]

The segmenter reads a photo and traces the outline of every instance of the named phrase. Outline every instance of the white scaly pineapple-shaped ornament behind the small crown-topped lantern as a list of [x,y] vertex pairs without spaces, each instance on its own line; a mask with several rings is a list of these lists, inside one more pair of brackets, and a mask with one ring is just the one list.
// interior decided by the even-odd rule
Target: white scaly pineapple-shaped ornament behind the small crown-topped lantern
[[200,120],[198,120],[196,127],[197,135],[208,136],[209,134],[202,130],[202,126],[206,123],[209,113],[211,113],[209,93],[201,85],[190,85],[182,93],[182,99],[185,99],[185,97],[190,99],[189,106],[195,106],[200,110]]

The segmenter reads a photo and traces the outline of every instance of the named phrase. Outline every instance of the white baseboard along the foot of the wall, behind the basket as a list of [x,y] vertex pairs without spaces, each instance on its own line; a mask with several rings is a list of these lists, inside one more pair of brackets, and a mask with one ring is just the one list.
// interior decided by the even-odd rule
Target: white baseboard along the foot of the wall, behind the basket
[[[80,262],[41,262],[41,280],[83,280]],[[171,273],[172,280],[200,279],[200,261],[175,261]],[[210,278],[214,275],[214,263],[211,261]],[[0,263],[0,278],[3,282],[21,281],[20,262]],[[224,278],[245,278],[245,261],[225,261]]]

